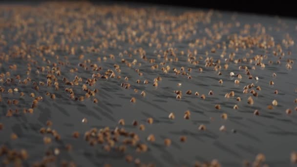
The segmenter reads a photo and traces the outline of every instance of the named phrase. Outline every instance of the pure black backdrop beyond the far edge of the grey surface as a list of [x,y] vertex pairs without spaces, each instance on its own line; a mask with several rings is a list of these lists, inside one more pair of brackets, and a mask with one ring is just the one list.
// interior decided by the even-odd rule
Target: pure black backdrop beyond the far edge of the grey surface
[[[98,0],[93,0],[98,1]],[[260,15],[297,17],[295,0],[112,0],[114,2],[137,2],[162,4],[192,8],[212,8],[216,10],[254,13]]]

